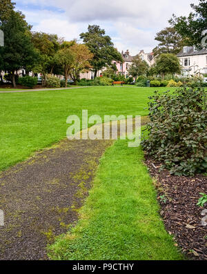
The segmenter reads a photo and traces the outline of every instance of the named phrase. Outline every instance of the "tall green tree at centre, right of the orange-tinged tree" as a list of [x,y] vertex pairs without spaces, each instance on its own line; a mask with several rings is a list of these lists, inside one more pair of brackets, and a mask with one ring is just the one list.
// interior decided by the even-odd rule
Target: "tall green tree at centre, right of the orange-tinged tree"
[[112,61],[123,62],[121,54],[114,48],[110,37],[105,35],[105,30],[101,30],[99,26],[88,26],[88,32],[81,33],[80,37],[88,46],[90,52],[94,55],[90,61],[91,66],[97,72],[104,67],[110,66]]

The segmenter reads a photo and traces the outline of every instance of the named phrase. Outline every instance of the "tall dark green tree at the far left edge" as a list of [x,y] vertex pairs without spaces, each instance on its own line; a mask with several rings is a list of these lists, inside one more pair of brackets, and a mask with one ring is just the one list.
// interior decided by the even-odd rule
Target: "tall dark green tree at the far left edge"
[[1,23],[4,32],[4,47],[0,48],[1,70],[8,71],[12,84],[16,87],[15,73],[21,68],[32,65],[37,52],[31,41],[30,26],[21,12],[10,11],[8,19]]

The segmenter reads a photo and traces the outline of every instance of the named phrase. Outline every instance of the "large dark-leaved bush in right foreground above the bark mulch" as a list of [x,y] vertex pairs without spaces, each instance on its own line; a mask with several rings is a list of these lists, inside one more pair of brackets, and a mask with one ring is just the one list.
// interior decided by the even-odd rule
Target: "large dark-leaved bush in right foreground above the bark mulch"
[[206,91],[182,88],[150,97],[146,153],[175,175],[195,175],[207,168]]

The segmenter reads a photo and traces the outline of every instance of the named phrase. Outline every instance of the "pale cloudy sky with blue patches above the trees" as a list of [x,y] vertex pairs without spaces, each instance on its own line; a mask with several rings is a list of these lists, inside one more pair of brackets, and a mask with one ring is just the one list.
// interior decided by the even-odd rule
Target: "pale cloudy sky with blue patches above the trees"
[[16,0],[33,31],[57,34],[67,41],[79,39],[88,24],[99,25],[120,52],[151,52],[157,32],[169,26],[172,13],[188,15],[199,0]]

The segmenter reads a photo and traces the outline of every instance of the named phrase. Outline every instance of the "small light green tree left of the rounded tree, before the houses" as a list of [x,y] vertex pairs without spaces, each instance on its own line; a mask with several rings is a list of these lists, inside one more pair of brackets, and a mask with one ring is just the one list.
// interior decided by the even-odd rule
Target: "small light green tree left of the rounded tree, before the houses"
[[135,56],[132,60],[132,66],[130,66],[128,73],[132,77],[137,78],[139,75],[146,75],[148,71],[148,63],[141,60],[139,55]]

